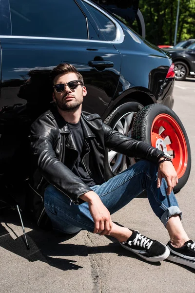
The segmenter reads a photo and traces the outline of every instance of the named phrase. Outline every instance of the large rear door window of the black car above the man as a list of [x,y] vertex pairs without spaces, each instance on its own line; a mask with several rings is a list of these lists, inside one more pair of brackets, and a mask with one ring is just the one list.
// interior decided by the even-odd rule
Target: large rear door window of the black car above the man
[[88,39],[86,18],[74,0],[10,0],[14,36]]

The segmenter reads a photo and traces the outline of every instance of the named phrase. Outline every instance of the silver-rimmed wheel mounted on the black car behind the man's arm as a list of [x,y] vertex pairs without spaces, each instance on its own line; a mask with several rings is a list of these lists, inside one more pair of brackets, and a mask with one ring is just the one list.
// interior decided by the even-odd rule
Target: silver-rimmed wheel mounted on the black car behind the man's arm
[[[131,137],[134,119],[138,111],[142,108],[143,105],[132,100],[127,100],[123,104],[117,106],[117,108],[114,109],[105,119],[104,123],[122,134]],[[109,149],[107,149],[106,157],[109,166],[115,175],[135,164],[134,158],[126,157]]]

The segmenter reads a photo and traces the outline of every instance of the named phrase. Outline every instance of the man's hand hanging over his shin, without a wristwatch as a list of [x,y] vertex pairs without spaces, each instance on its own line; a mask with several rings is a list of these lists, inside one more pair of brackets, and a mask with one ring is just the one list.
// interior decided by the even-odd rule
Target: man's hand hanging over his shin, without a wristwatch
[[100,235],[110,235],[112,230],[112,220],[109,210],[104,206],[97,193],[88,191],[80,196],[81,199],[89,204],[89,211],[94,220],[94,233]]

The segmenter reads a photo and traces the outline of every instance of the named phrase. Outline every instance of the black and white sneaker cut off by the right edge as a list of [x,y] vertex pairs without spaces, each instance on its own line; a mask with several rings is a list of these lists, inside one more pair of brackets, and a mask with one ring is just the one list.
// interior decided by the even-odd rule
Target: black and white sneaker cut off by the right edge
[[167,247],[170,250],[170,255],[167,259],[195,269],[195,242],[189,240],[182,247],[175,248],[169,241]]

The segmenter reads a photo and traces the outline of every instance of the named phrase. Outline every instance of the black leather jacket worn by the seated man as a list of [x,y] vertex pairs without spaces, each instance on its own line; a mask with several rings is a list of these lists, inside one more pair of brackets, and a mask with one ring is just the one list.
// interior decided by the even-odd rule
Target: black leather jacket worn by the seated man
[[[162,152],[146,143],[136,141],[104,124],[98,114],[81,113],[84,134],[82,161],[95,183],[102,184],[113,176],[107,163],[106,148],[128,157],[148,159],[157,163]],[[71,202],[80,204],[79,196],[91,190],[72,171],[78,151],[69,128],[56,108],[42,114],[32,125],[30,133],[34,171],[31,186],[39,190],[45,182],[53,184]],[[38,167],[38,168],[37,168]]]

